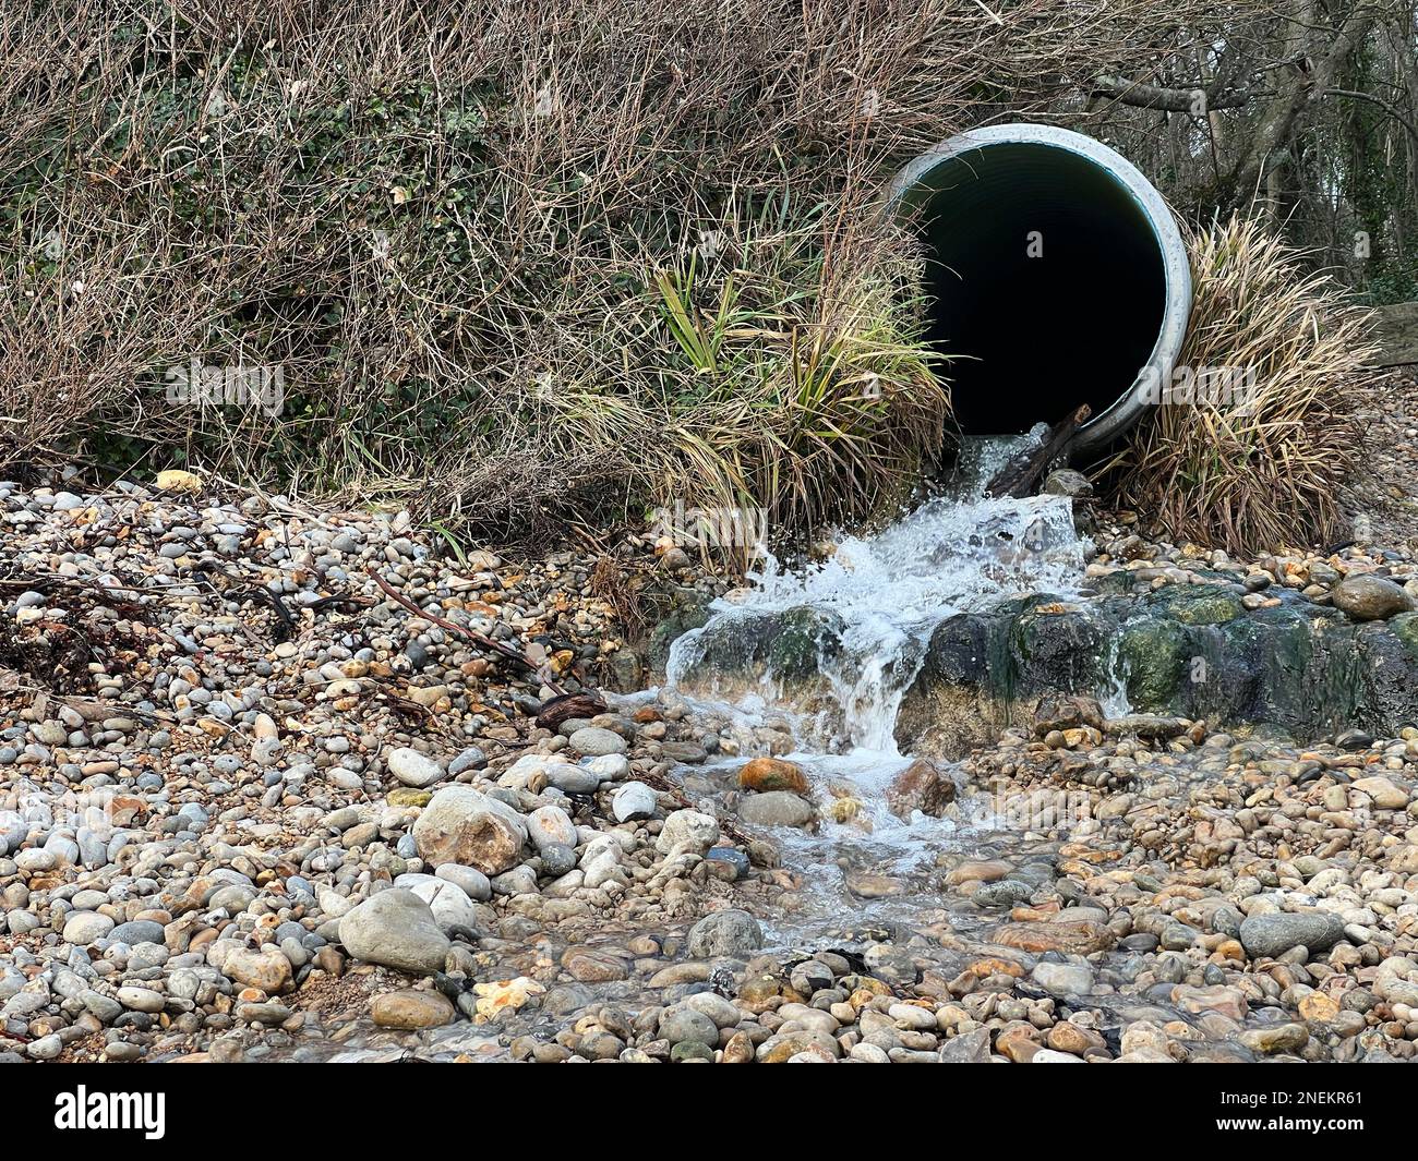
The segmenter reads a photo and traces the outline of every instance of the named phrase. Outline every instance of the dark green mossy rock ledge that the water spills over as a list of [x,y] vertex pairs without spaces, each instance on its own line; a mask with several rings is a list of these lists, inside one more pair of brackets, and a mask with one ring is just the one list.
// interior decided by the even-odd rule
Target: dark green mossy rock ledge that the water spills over
[[[1278,605],[1248,611],[1221,584],[1139,597],[1034,594],[947,617],[902,696],[898,744],[957,758],[1039,697],[1100,697],[1116,678],[1139,713],[1300,741],[1344,723],[1390,736],[1418,724],[1418,612],[1356,625],[1297,594],[1276,595]],[[827,610],[740,610],[699,639],[693,683],[722,679],[746,692],[769,678],[795,706],[830,709],[844,632]]]

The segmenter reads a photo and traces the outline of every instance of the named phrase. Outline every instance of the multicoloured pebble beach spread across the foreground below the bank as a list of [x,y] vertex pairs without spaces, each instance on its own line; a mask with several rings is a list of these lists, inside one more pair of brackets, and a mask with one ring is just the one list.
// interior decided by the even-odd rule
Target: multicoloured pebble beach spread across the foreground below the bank
[[[1411,727],[1296,741],[1051,699],[872,798],[787,716],[635,689],[594,559],[454,559],[407,515],[187,481],[0,485],[0,1059],[1418,1045]],[[1383,619],[1418,576],[1095,540],[1092,577],[1229,568],[1248,610]],[[631,551],[723,591],[654,549]]]

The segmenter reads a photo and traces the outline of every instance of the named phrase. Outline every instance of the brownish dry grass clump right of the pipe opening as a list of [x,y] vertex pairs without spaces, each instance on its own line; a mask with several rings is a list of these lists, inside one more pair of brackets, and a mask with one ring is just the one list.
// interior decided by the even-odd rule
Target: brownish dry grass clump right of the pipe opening
[[1346,391],[1373,353],[1368,312],[1305,274],[1256,220],[1193,231],[1188,245],[1195,302],[1180,364],[1231,369],[1235,390],[1190,401],[1183,390],[1149,408],[1113,465],[1124,468],[1119,500],[1173,540],[1229,553],[1332,543],[1356,447]]

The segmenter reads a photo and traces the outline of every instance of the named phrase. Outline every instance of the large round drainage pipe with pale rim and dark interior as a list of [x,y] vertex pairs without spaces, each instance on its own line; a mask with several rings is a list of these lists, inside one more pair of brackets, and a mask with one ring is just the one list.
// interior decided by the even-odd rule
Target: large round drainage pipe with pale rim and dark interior
[[1073,452],[1126,431],[1171,371],[1191,269],[1161,194],[1106,145],[994,125],[922,155],[891,189],[926,248],[930,342],[967,435],[1092,418]]

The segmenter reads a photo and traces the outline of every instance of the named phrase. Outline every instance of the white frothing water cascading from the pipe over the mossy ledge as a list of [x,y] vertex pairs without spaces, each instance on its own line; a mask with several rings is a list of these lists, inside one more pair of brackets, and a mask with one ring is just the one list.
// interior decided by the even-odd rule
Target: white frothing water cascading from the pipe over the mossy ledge
[[[951,923],[964,913],[978,919],[974,906],[942,894],[940,868],[961,858],[1029,858],[1035,836],[1011,829],[984,795],[961,795],[947,818],[916,812],[902,819],[888,808],[886,790],[912,761],[898,748],[896,716],[932,631],[953,614],[1014,595],[1068,597],[1082,585],[1090,546],[1073,527],[1068,499],[983,495],[981,481],[1031,438],[1038,432],[968,448],[968,471],[950,495],[875,534],[842,537],[822,563],[786,568],[770,557],[747,590],[719,601],[702,629],[675,642],[666,669],[671,695],[727,717],[743,739],[742,754],[754,753],[754,739],[761,739],[756,727],[786,724],[793,741],[784,757],[808,773],[818,801],[828,805],[815,834],[771,831],[784,866],[804,877],[808,903],[797,920],[777,927],[786,941],[807,938],[828,916],[920,921],[944,909]],[[830,714],[795,710],[771,666],[750,689],[720,680],[716,663],[723,668],[725,649],[732,655],[736,639],[750,641],[763,618],[801,617],[804,610],[839,627],[839,648],[817,662]],[[1126,710],[1120,680],[1098,693],[1109,710]],[[824,717],[832,723],[827,729]],[[742,756],[719,768],[727,775],[739,764]]]

